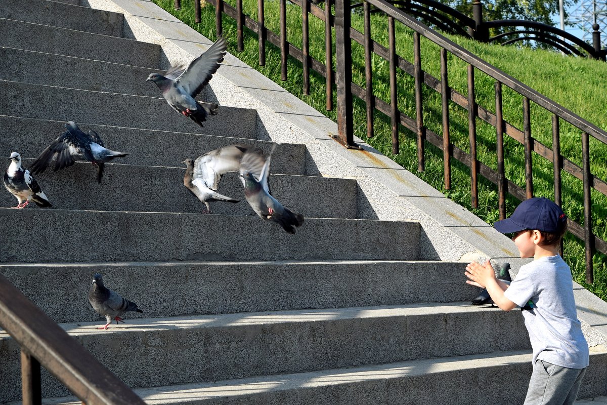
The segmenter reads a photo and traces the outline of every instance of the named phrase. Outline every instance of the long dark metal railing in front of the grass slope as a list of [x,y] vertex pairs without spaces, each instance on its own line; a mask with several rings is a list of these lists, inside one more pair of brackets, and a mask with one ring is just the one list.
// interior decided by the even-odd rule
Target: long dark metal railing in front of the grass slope
[[[215,6],[217,18],[217,35],[222,33],[221,13],[225,13],[237,24],[238,35],[242,37],[242,27],[245,26],[259,36],[260,51],[259,63],[263,66],[265,59],[265,42],[274,44],[280,48],[282,80],[287,79],[287,61],[288,57],[302,63],[304,68],[303,78],[305,83],[309,83],[310,69],[317,72],[326,80],[327,86],[327,110],[333,108],[332,92],[336,84],[337,89],[337,128],[336,140],[346,148],[360,149],[354,141],[353,129],[353,97],[364,101],[367,111],[367,136],[374,134],[374,111],[379,111],[390,118],[392,127],[392,152],[399,152],[399,126],[409,129],[417,138],[418,170],[423,171],[425,166],[424,147],[427,143],[436,146],[443,151],[444,157],[444,181],[445,188],[450,189],[451,185],[451,167],[452,157],[470,168],[470,189],[472,194],[472,206],[478,206],[478,175],[497,185],[498,188],[498,210],[500,219],[506,216],[506,194],[514,196],[518,200],[529,199],[534,196],[534,175],[532,173],[532,159],[534,154],[543,158],[546,162],[554,165],[554,192],[555,202],[558,205],[562,203],[562,182],[561,172],[571,174],[583,183],[583,206],[584,221],[583,225],[572,220],[569,221],[569,232],[582,239],[585,245],[586,256],[586,282],[592,283],[594,276],[592,273],[592,256],[595,251],[607,254],[607,243],[605,240],[597,237],[592,231],[591,216],[591,189],[594,189],[604,196],[607,196],[607,183],[593,175],[590,170],[589,137],[595,138],[600,143],[607,144],[607,132],[597,128],[573,112],[569,111],[555,101],[550,100],[542,94],[521,83],[513,77],[510,77],[501,70],[493,67],[484,60],[468,52],[463,47],[454,43],[435,30],[404,12],[397,9],[385,0],[366,0],[363,3],[364,32],[361,33],[351,26],[351,5],[349,0],[336,0],[334,4],[335,15],[331,13],[332,0],[324,2],[324,7],[310,3],[308,0],[290,0],[291,3],[299,5],[302,9],[302,24],[307,22],[307,14],[316,16],[325,22],[325,61],[318,61],[310,58],[306,47],[299,49],[287,41],[287,19],[285,12],[286,0],[280,1],[280,33],[276,34],[268,30],[263,21],[263,13],[258,13],[258,21],[254,21],[246,15],[242,15],[242,0],[236,0],[237,7],[234,8],[224,0],[208,0]],[[264,7],[264,0],[257,0],[258,10]],[[388,47],[371,39],[370,12],[371,9],[383,13],[388,20]],[[305,13],[304,13],[305,11]],[[305,16],[304,16],[305,15]],[[199,18],[198,18],[199,19]],[[396,54],[395,50],[395,29],[394,24],[398,21],[409,29],[413,30],[413,63],[405,60]],[[331,27],[336,35],[336,70],[331,70],[333,55],[331,51]],[[294,29],[294,28],[293,28]],[[299,28],[298,28],[299,29]],[[419,39],[424,38],[432,41],[440,48],[441,59],[441,77],[435,78],[421,69],[421,52],[419,50]],[[242,38],[239,38],[239,43]],[[352,83],[352,53],[351,41],[361,44],[365,49],[365,86],[363,88],[358,84]],[[307,43],[307,39],[303,41]],[[378,55],[388,61],[390,65],[390,102],[382,100],[373,94],[372,81],[372,63],[371,55]],[[467,95],[463,95],[449,87],[449,72],[447,70],[447,58],[449,55],[463,60],[467,64]],[[400,70],[411,75],[415,79],[415,118],[409,117],[399,111],[397,103],[397,84],[396,72]],[[483,72],[488,75],[495,83],[495,113],[489,108],[481,106],[475,100],[475,71]],[[333,79],[334,78],[334,79]],[[424,98],[422,96],[422,87],[435,90],[442,98],[442,134],[438,135],[424,125],[423,109]],[[514,90],[523,99],[523,129],[518,129],[514,124],[504,120],[503,117],[503,86]],[[304,89],[304,92],[307,89]],[[537,104],[541,109],[549,112],[552,116],[552,134],[553,148],[543,145],[539,140],[531,135],[531,109],[530,102]],[[458,148],[450,140],[450,117],[449,103],[463,107],[468,112],[468,135],[470,152]],[[493,107],[493,106],[492,106]],[[476,155],[476,120],[484,121],[493,128],[496,134],[497,146],[497,170],[494,170],[480,162]],[[580,143],[582,146],[582,167],[578,166],[560,152],[560,122],[565,121],[579,131]],[[518,141],[524,145],[524,171],[525,188],[521,188],[516,183],[506,179],[504,168],[504,135]]]

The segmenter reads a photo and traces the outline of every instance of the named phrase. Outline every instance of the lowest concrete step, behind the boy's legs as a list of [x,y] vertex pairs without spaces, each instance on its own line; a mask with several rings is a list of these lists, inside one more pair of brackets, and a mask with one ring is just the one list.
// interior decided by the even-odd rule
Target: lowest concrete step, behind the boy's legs
[[[513,350],[142,388],[135,392],[149,405],[512,405],[524,402],[531,370],[531,353]],[[605,395],[605,370],[607,350],[591,348],[590,366],[578,398],[601,399]],[[80,401],[70,396],[45,398],[42,404],[80,405]]]

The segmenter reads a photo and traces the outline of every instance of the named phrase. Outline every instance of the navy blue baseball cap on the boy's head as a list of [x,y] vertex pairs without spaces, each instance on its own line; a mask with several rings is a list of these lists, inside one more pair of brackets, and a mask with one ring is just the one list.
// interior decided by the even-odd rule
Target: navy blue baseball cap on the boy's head
[[493,223],[493,228],[501,233],[515,233],[524,230],[557,232],[562,229],[567,216],[560,206],[546,197],[524,200],[509,218]]

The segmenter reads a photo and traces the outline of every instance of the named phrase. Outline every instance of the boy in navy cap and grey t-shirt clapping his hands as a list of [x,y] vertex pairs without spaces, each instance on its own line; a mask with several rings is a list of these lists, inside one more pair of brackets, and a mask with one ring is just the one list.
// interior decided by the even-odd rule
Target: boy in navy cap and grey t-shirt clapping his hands
[[493,223],[514,233],[521,266],[507,285],[495,277],[489,260],[466,266],[467,284],[487,289],[504,311],[521,307],[533,348],[533,373],[524,405],[573,404],[588,367],[588,343],[577,319],[571,270],[558,254],[567,228],[561,208],[543,197],[523,201],[512,216]]

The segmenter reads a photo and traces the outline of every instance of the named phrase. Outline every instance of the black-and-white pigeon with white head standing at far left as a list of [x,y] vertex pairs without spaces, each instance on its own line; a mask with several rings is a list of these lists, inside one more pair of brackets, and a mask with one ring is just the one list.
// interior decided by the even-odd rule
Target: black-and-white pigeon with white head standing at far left
[[30,200],[42,208],[53,206],[30,171],[21,167],[21,155],[13,152],[10,154],[10,160],[10,165],[4,173],[4,186],[19,202],[19,205],[12,208],[25,208]]

